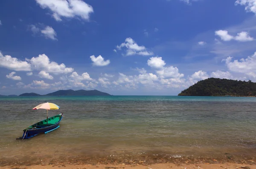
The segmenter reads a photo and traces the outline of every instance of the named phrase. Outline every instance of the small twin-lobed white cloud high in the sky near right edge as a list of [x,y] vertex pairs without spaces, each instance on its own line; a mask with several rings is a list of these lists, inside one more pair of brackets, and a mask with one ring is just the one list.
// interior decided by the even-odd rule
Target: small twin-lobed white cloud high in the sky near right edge
[[228,34],[228,31],[215,31],[215,35],[221,37],[224,41],[230,41],[232,39],[240,41],[240,42],[247,42],[247,41],[253,41],[253,37],[250,37],[248,32],[242,31],[236,35],[236,37],[233,37],[232,35]]

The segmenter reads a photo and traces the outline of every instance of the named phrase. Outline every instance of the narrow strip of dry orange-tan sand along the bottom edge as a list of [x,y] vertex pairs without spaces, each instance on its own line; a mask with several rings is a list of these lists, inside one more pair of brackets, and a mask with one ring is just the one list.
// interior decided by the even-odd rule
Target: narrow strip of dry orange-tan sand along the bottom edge
[[255,164],[239,163],[199,163],[199,164],[174,164],[159,163],[152,165],[125,165],[125,164],[99,164],[99,165],[33,165],[33,166],[3,166],[0,169],[256,169]]

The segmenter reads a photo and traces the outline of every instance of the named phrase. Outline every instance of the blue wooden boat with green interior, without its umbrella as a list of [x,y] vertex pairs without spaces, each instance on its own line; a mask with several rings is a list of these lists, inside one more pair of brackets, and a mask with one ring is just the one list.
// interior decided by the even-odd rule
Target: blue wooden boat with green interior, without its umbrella
[[33,124],[29,127],[27,127],[26,129],[23,130],[23,136],[20,138],[16,138],[16,139],[28,139],[28,138],[32,138],[38,134],[41,133],[48,133],[51,132],[53,130],[58,129],[59,124],[61,122],[63,114],[59,114],[59,115],[55,115],[53,117],[48,118],[48,122],[47,119],[39,121],[36,124]]

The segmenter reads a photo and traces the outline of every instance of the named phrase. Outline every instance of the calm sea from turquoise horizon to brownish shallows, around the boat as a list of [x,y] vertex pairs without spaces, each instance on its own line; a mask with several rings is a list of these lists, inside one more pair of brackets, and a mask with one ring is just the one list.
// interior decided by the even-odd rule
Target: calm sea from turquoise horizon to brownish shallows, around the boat
[[[57,130],[16,140],[64,113]],[[256,158],[256,97],[0,97],[0,166],[54,163],[162,163]]]

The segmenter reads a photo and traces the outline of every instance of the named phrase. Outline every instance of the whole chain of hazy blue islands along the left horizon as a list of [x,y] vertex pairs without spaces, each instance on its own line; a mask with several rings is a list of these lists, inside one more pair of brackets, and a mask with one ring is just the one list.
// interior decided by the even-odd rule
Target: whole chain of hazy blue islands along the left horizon
[[101,92],[99,90],[58,90],[46,95],[40,95],[37,93],[23,93],[20,96],[111,96],[108,93]]

